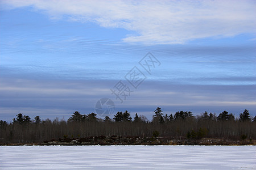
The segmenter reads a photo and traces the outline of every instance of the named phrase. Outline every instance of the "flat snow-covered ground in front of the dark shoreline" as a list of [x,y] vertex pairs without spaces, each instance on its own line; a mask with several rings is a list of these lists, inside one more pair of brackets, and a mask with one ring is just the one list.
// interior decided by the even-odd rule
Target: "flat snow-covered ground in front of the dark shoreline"
[[255,146],[0,146],[0,169],[256,169]]

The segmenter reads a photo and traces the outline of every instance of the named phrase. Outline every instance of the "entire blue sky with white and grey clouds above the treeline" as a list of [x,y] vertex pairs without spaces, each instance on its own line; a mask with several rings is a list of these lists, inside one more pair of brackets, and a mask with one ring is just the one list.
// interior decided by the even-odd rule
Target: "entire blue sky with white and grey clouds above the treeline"
[[0,0],[0,120],[256,114],[255,1]]

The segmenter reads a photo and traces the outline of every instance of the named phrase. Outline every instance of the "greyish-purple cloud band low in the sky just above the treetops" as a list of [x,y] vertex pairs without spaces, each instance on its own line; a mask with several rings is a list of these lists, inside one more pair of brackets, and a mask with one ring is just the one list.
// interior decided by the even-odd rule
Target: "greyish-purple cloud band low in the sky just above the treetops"
[[[102,97],[115,103],[115,112],[130,111],[145,114],[151,119],[156,107],[165,113],[180,110],[195,115],[204,111],[220,113],[226,109],[232,113],[249,109],[255,113],[254,86],[181,85],[146,81],[131,93],[123,103],[111,95],[113,80],[50,80],[26,78],[0,78],[0,117],[11,121],[16,114],[31,117],[69,118],[74,111],[83,114],[95,112],[95,104]],[[148,111],[148,112],[145,112]]]

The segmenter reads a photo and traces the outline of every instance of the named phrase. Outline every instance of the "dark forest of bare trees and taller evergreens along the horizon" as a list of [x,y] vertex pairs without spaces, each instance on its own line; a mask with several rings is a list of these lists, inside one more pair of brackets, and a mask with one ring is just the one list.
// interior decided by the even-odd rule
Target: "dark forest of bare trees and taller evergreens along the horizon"
[[239,117],[224,111],[218,115],[204,112],[193,116],[192,112],[179,111],[163,114],[156,108],[152,120],[143,115],[132,118],[128,111],[117,112],[113,118],[98,118],[96,113],[81,114],[74,112],[65,120],[41,120],[36,116],[19,113],[13,122],[0,121],[0,144],[42,143],[61,138],[88,137],[138,137],[138,138],[172,138],[196,140],[201,138],[232,139],[250,141],[256,139],[256,116],[250,116],[246,109]]

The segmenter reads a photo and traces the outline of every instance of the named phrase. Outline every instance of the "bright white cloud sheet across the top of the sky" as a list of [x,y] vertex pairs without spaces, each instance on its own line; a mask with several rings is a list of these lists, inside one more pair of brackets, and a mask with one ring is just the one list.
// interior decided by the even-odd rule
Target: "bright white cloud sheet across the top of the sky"
[[183,44],[207,37],[256,31],[255,1],[2,1],[9,7],[32,6],[53,19],[94,22],[135,32],[125,42]]

